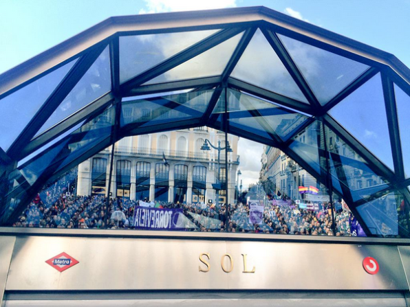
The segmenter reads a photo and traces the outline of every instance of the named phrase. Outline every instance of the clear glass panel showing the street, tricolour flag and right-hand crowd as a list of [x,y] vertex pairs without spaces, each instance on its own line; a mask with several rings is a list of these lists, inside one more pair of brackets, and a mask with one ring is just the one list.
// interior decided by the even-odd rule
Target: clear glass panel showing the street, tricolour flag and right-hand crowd
[[248,139],[239,139],[237,153],[228,231],[333,235],[330,196],[311,174],[281,150]]

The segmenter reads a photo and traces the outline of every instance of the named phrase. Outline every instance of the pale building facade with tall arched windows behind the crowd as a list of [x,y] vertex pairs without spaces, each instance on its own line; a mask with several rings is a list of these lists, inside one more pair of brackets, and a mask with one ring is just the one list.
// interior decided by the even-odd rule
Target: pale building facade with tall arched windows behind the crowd
[[[205,139],[213,144],[225,134],[218,130],[198,127],[151,135],[126,137],[116,143],[111,177],[111,196],[132,200],[148,198],[156,201],[198,203],[215,201],[212,184],[217,176],[217,151],[201,150]],[[235,197],[235,182],[239,156],[238,137],[230,135],[228,142],[228,199]],[[107,194],[111,148],[80,164],[78,195]],[[167,166],[163,161],[163,154]],[[226,201],[225,151],[219,163],[222,190],[219,201]]]

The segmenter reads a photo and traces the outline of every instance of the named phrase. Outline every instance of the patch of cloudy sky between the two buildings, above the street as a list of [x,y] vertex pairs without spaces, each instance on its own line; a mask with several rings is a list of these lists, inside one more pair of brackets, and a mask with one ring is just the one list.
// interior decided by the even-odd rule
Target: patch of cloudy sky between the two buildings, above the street
[[259,181],[259,172],[262,168],[262,152],[263,144],[244,139],[243,137],[239,138],[238,155],[241,157],[241,163],[238,166],[238,170],[241,170],[242,173],[239,176],[239,185],[242,180],[242,191],[248,190],[248,186],[251,183]]

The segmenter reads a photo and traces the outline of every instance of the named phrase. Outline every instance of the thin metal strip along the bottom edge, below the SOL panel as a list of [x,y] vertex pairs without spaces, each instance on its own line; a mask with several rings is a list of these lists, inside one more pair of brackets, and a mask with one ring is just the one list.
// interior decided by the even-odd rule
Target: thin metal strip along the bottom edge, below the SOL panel
[[406,307],[404,298],[362,299],[104,299],[84,301],[9,301],[5,307]]

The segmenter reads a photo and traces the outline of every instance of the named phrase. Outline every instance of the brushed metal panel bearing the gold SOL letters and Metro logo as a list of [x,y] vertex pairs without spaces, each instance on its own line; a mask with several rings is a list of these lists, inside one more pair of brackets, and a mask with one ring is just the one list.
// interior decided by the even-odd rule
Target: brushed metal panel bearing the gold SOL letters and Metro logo
[[[62,252],[80,263],[62,273],[45,263]],[[202,253],[210,255],[203,257],[207,273],[199,271],[206,269]],[[241,254],[255,273],[243,273]],[[380,264],[378,274],[363,269],[367,256]],[[7,291],[408,288],[393,246],[34,236],[17,238],[6,285]]]

